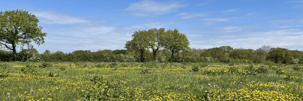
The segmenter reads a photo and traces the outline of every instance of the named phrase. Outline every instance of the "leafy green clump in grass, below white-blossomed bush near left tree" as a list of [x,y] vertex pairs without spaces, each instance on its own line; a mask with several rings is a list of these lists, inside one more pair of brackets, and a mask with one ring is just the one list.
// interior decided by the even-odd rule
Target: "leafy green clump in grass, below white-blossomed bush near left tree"
[[24,67],[21,68],[21,72],[24,74],[38,74],[38,66],[26,63]]

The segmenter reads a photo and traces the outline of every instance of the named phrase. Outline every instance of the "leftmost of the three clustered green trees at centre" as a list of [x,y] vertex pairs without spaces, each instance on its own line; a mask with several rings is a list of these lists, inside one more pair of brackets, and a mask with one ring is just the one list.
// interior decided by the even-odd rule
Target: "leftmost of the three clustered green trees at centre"
[[132,34],[132,40],[125,44],[125,48],[140,53],[140,62],[144,62],[144,52],[148,49],[148,46],[150,46],[150,38],[146,30],[135,31]]

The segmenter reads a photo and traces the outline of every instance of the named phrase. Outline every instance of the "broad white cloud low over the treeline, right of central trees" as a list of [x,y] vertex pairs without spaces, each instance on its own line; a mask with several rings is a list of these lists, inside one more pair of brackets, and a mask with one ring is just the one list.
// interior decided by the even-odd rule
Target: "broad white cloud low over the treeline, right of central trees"
[[[236,36],[235,36],[236,35]],[[200,46],[223,46],[230,45],[235,48],[253,48],[257,49],[262,45],[269,44],[274,47],[283,47],[288,49],[299,49],[303,51],[303,30],[301,29],[273,29],[267,31],[236,32],[233,37],[226,34],[219,34],[216,37],[197,38],[192,40],[189,37],[192,48],[201,48]]]

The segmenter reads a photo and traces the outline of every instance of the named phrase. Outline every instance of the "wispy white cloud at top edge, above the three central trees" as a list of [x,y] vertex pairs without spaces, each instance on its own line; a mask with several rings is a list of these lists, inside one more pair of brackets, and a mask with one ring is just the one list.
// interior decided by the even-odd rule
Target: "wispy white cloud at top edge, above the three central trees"
[[152,0],[144,0],[130,4],[125,11],[132,12],[135,16],[146,16],[150,14],[175,12],[182,7],[185,7],[185,5],[177,2],[156,2]]

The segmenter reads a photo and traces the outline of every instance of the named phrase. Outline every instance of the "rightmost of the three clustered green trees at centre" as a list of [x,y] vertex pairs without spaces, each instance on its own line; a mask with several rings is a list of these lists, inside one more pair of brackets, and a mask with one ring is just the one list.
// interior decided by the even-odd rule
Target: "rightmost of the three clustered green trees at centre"
[[190,49],[186,35],[180,33],[177,29],[166,31],[162,45],[165,49],[171,51],[170,61],[173,60],[175,53]]

